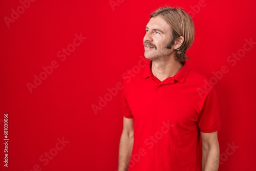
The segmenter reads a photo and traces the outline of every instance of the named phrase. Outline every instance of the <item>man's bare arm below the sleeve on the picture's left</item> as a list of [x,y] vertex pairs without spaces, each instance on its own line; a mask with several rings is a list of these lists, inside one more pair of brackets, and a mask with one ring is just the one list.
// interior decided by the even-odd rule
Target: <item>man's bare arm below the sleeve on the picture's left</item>
[[133,119],[123,117],[123,132],[119,145],[118,171],[127,171],[133,149]]

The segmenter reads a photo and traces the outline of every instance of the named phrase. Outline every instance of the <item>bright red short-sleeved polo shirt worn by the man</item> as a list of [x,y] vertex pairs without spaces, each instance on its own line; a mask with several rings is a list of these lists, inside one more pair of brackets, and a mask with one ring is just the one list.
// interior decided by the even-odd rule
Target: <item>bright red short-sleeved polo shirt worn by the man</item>
[[200,131],[220,129],[215,89],[186,63],[162,82],[151,65],[124,81],[124,117],[134,120],[129,170],[201,170]]

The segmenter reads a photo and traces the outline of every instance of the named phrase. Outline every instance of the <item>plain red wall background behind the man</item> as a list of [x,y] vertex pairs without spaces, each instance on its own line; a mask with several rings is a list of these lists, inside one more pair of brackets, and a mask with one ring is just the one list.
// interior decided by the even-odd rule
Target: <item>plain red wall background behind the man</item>
[[[115,2],[117,0],[114,0]],[[256,170],[256,45],[238,60],[245,39],[256,41],[254,1],[35,1],[14,22],[19,1],[0,2],[0,142],[4,113],[9,115],[8,168],[0,145],[1,170],[110,170],[117,169],[122,131],[121,91],[95,112],[99,97],[122,81],[143,55],[142,39],[150,13],[163,5],[183,7],[196,27],[188,64],[208,78],[227,66],[215,85],[222,129],[219,131],[219,170]],[[199,6],[201,5],[201,7]],[[198,8],[200,7],[200,8]],[[114,10],[113,10],[114,9]],[[87,37],[66,60],[57,52],[73,43],[75,34]],[[247,48],[249,46],[246,46]],[[30,93],[33,83],[53,60],[58,67]],[[39,161],[57,144],[69,141],[49,163]],[[237,147],[232,151],[228,144]],[[52,151],[53,152],[53,151]],[[3,161],[2,161],[3,160]]]

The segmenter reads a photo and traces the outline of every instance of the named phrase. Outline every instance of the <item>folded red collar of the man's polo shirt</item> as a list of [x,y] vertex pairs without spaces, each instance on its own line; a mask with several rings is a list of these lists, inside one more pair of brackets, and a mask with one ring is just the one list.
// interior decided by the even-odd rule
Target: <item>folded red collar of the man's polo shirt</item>
[[[155,77],[151,71],[151,66],[152,66],[152,60],[148,61],[147,64],[146,64],[146,68],[144,70],[144,74],[143,74],[143,78],[146,79],[148,77]],[[181,68],[181,70],[175,74],[173,77],[169,77],[170,79],[169,80],[173,80],[172,82],[170,83],[173,83],[174,80],[177,80],[179,82],[183,82],[187,76],[189,72],[189,67],[187,66],[187,63],[185,62],[183,67]],[[168,79],[168,78],[166,78]],[[166,81],[166,79],[164,81]]]

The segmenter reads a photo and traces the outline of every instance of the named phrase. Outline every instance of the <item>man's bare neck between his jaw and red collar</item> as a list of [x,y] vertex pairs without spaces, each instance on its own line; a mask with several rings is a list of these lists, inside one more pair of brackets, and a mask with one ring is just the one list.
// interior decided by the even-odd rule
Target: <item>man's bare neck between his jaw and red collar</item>
[[168,77],[173,77],[182,67],[182,63],[173,57],[169,60],[153,61],[151,70],[155,77],[160,81],[163,81]]

